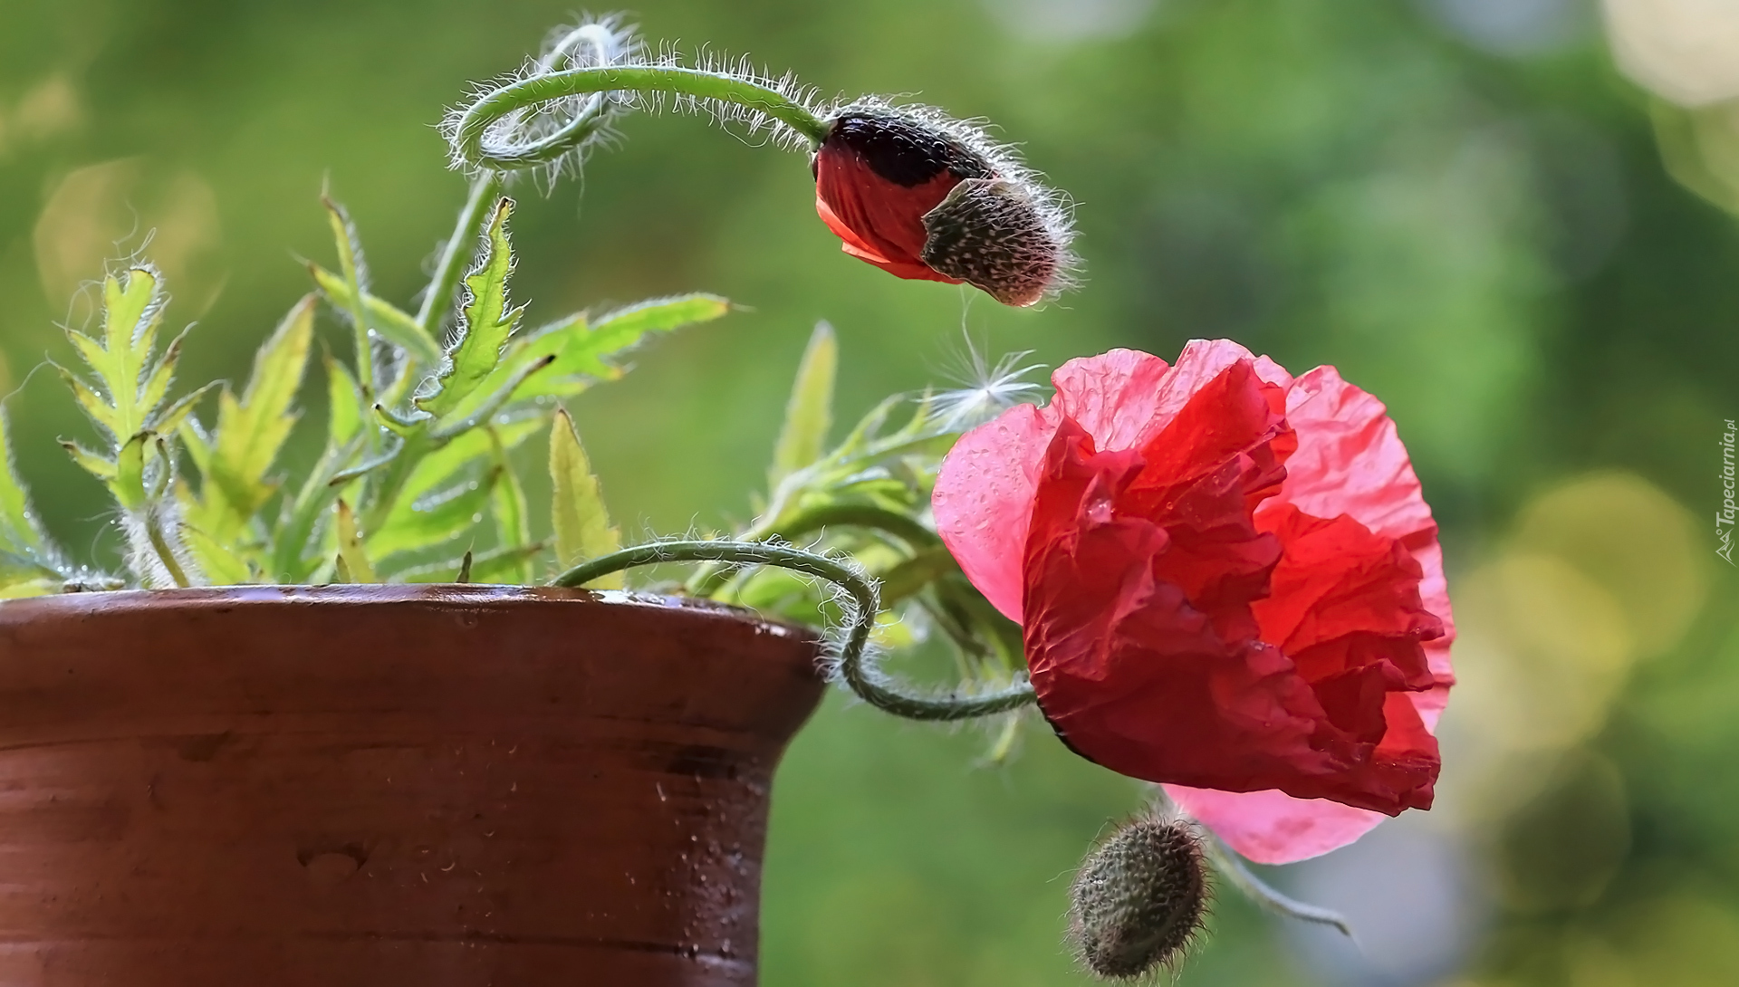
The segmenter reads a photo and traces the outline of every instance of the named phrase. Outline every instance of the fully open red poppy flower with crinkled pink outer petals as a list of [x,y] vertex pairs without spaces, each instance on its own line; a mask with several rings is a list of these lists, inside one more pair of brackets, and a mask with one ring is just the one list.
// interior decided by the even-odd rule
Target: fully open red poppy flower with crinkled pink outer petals
[[1052,382],[960,440],[934,509],[1063,740],[1259,862],[1429,808],[1454,629],[1383,405],[1226,341]]

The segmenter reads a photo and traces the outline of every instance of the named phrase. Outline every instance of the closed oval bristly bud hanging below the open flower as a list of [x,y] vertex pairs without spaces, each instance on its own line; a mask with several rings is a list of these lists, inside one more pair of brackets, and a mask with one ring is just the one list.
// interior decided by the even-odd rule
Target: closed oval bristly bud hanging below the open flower
[[1069,935],[1083,964],[1127,980],[1183,956],[1207,911],[1202,838],[1181,818],[1120,827],[1082,862],[1069,888]]

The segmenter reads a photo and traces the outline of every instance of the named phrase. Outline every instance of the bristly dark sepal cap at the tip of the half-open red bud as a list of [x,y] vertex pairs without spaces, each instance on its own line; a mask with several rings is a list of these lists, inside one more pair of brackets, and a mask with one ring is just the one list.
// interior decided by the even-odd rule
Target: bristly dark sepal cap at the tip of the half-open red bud
[[923,215],[923,262],[1009,306],[1045,297],[1063,245],[1031,193],[1003,179],[965,179]]

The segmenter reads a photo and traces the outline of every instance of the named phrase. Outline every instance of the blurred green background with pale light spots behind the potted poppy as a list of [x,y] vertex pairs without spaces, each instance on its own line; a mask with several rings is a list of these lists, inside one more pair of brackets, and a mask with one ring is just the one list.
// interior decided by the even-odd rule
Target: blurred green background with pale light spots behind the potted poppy
[[[1443,525],[1462,639],[1438,808],[1269,874],[1349,912],[1362,952],[1226,895],[1177,980],[1736,984],[1739,579],[1713,516],[1739,417],[1739,9],[1605,7],[643,0],[649,38],[995,120],[1078,203],[1085,287],[1010,311],[897,282],[838,252],[802,155],[663,116],[630,118],[583,182],[520,188],[515,294],[532,318],[746,306],[574,403],[630,532],[744,518],[819,318],[842,417],[946,382],[965,334],[1047,365],[1203,335],[1339,365],[1389,403]],[[569,17],[0,0],[3,389],[63,544],[113,553],[54,443],[83,426],[31,372],[70,356],[57,323],[89,316],[104,257],[155,231],[170,321],[200,323],[183,381],[243,375],[308,290],[322,182],[407,304],[464,191],[442,108]],[[1082,980],[1069,872],[1141,791],[1043,730],[1007,768],[983,751],[830,700],[779,777],[767,985]]]

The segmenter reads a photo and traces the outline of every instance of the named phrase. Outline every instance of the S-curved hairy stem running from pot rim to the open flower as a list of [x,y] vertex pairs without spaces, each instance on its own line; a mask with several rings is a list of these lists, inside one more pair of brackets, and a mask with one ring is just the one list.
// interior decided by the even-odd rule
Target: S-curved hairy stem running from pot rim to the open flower
[[840,645],[838,674],[859,699],[908,719],[970,719],[1005,712],[1033,702],[1031,683],[1021,679],[983,695],[927,695],[883,672],[866,653],[882,598],[875,582],[857,565],[790,546],[765,542],[652,542],[583,561],[551,580],[551,586],[584,586],[598,577],[661,561],[723,561],[772,565],[824,579],[850,599],[850,627]]

